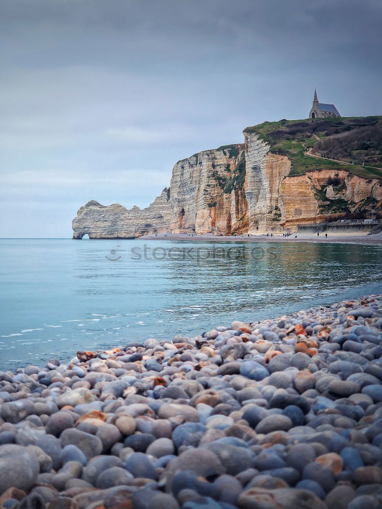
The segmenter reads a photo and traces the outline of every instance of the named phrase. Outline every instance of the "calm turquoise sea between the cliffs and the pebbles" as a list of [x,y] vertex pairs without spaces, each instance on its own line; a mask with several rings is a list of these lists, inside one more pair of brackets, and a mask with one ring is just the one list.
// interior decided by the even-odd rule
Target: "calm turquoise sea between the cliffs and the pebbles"
[[9,370],[382,292],[382,247],[1,239],[0,285]]

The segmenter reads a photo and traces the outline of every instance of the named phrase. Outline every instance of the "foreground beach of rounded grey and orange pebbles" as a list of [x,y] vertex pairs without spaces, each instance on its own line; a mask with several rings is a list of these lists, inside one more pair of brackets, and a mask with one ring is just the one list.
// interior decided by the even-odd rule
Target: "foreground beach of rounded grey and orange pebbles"
[[0,372],[0,505],[380,509],[382,295]]

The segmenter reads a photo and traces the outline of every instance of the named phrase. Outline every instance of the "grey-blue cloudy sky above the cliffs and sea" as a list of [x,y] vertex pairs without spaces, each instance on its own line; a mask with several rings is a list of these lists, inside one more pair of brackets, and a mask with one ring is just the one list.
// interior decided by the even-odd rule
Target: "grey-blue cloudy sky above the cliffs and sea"
[[306,118],[382,115],[380,0],[0,0],[1,237],[147,206],[172,166]]

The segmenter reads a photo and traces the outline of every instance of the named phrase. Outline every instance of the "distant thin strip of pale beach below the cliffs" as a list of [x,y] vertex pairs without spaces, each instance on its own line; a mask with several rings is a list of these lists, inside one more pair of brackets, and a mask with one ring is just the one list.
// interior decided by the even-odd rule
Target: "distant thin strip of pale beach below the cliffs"
[[[122,239],[123,240],[123,239]],[[184,240],[184,241],[209,241],[209,242],[282,242],[282,243],[290,243],[290,242],[313,242],[316,244],[365,244],[365,245],[382,245],[382,233],[375,235],[353,235],[353,234],[329,234],[328,238],[325,237],[325,234],[320,233],[317,237],[317,234],[310,233],[294,233],[289,237],[283,237],[282,235],[272,235],[267,237],[266,235],[236,235],[236,236],[216,236],[211,233],[207,234],[157,234],[157,235],[144,235],[142,237],[138,237],[135,240]]]

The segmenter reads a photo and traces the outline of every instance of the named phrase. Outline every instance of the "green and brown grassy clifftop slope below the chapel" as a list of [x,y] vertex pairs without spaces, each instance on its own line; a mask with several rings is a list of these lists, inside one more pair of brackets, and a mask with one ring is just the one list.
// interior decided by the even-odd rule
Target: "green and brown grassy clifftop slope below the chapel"
[[[272,153],[287,156],[292,161],[291,176],[315,169],[342,169],[366,179],[382,178],[381,116],[283,119],[247,127],[244,133],[257,134]],[[304,149],[311,148],[313,154],[345,164],[309,156]]]

